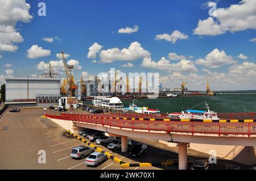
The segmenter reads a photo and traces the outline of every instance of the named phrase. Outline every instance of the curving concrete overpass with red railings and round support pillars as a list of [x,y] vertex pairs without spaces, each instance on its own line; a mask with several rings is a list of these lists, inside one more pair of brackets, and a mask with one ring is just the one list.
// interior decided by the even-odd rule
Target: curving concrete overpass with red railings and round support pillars
[[[112,116],[112,117],[110,117]],[[119,115],[118,115],[119,116]],[[65,129],[76,133],[81,128],[104,131],[107,136],[122,138],[127,151],[127,137],[176,142],[179,147],[179,169],[187,169],[187,144],[256,146],[256,120],[191,121],[143,119],[101,115],[46,115]]]

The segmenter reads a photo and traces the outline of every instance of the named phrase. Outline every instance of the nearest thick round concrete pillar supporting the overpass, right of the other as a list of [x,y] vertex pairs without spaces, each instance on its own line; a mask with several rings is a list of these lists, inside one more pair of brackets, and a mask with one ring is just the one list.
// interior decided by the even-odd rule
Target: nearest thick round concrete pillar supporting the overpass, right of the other
[[187,170],[187,143],[179,142],[179,170]]

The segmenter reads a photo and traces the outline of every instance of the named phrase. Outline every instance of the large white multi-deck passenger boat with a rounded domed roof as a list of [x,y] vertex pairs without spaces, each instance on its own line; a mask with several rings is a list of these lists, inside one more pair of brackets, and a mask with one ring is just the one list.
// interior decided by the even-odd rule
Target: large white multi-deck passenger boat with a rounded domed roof
[[123,108],[123,103],[117,97],[106,98],[106,97],[98,96],[92,100],[92,103],[93,103],[93,106],[108,108],[110,110],[122,110]]

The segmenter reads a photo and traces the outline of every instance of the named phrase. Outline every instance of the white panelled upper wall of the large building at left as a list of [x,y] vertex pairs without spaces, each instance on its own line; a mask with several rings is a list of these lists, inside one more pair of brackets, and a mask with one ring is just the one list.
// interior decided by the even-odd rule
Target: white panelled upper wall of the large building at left
[[36,99],[37,94],[60,94],[60,79],[6,78],[6,102]]

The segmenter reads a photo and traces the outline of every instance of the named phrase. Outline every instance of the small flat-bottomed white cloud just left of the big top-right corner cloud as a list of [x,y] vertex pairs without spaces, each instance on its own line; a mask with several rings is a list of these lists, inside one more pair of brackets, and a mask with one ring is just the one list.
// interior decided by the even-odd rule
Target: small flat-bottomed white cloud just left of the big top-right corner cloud
[[181,33],[180,31],[173,31],[171,35],[164,33],[160,35],[155,36],[156,40],[166,40],[170,41],[171,43],[175,44],[177,40],[186,40],[188,39],[188,35],[185,35],[184,33]]

